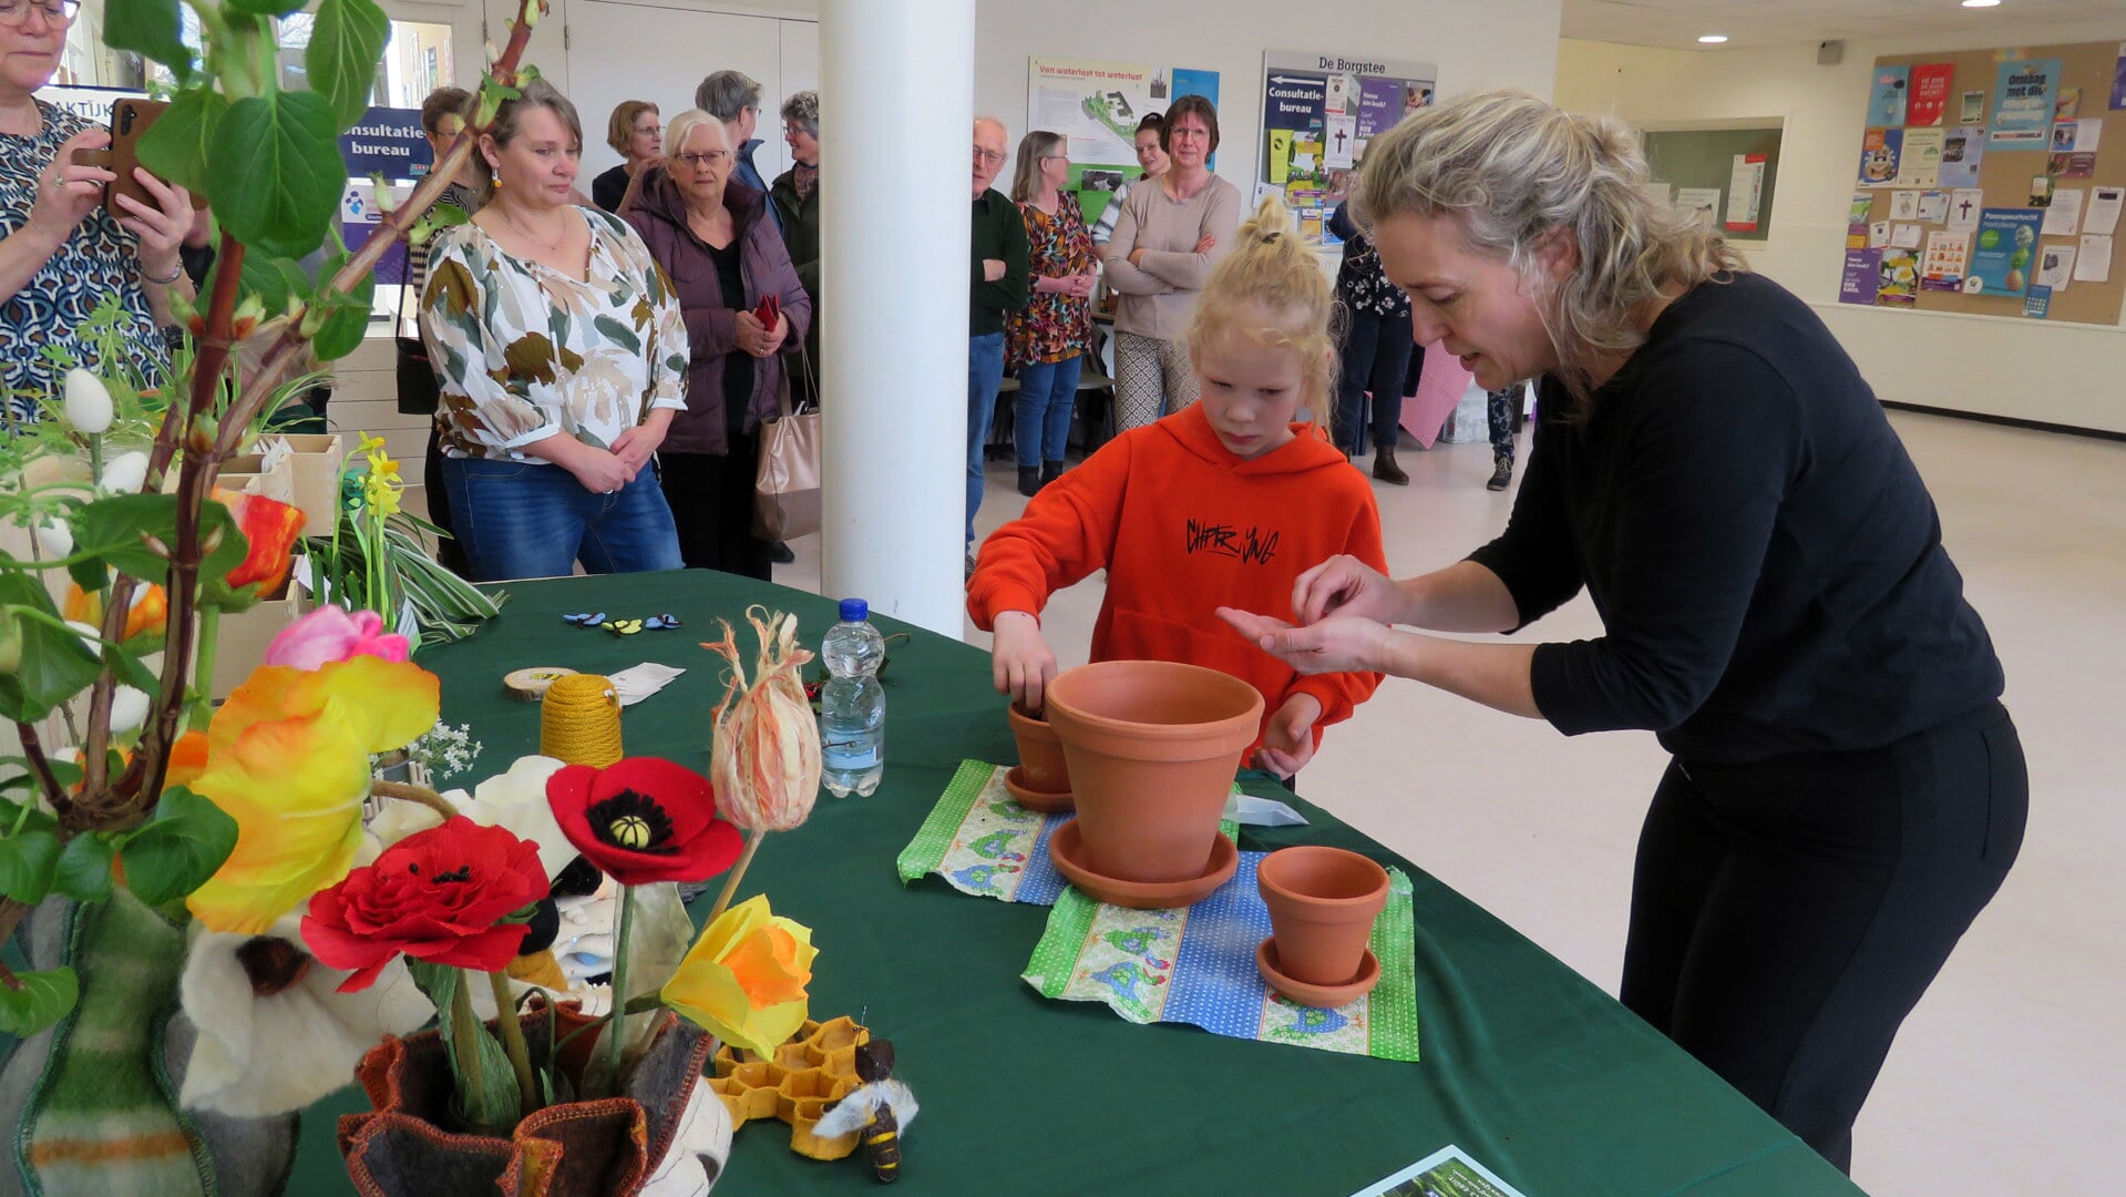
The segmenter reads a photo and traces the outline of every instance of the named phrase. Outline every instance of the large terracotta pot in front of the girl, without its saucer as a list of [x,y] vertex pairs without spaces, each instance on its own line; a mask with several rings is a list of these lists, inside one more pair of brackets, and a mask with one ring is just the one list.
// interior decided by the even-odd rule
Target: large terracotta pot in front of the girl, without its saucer
[[1174,661],[1097,661],[1048,685],[1084,863],[1116,880],[1191,880],[1210,867],[1239,755],[1263,721],[1248,682]]

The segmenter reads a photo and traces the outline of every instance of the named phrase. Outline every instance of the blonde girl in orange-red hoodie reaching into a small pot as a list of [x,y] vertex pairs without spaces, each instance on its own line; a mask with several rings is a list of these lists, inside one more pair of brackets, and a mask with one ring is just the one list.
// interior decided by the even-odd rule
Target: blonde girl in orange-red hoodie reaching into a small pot
[[1384,568],[1373,487],[1301,406],[1333,408],[1335,293],[1276,198],[1239,225],[1188,325],[1201,402],[1110,440],[982,544],[967,614],[995,634],[997,693],[1040,710],[1057,657],[1048,595],[1108,570],[1095,661],[1208,665],[1263,693],[1250,761],[1290,778],[1380,674],[1301,676],[1216,610],[1282,610],[1329,553]]

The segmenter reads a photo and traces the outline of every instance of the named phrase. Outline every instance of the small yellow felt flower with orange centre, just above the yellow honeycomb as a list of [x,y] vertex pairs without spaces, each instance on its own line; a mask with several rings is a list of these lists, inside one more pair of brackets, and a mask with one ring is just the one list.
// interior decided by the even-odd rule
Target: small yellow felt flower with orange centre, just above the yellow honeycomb
[[723,1042],[774,1055],[804,1025],[816,955],[810,927],[776,916],[767,895],[755,895],[702,929],[661,995]]

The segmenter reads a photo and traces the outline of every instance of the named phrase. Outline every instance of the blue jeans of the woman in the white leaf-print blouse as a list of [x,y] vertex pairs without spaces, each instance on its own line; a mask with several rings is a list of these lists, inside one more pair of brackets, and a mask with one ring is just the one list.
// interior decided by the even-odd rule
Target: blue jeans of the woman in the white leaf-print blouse
[[476,583],[566,578],[578,559],[591,574],[682,568],[672,508],[651,470],[593,495],[559,466],[444,457],[442,485]]

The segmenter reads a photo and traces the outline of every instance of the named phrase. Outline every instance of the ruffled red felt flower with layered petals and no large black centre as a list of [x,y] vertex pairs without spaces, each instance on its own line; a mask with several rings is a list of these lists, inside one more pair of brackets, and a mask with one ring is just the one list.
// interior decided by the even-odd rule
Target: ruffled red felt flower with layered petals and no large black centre
[[302,942],[330,967],[355,970],[340,993],[368,989],[391,957],[495,972],[527,927],[502,923],[546,897],[538,844],[457,816],[406,836],[374,865],[310,899]]

